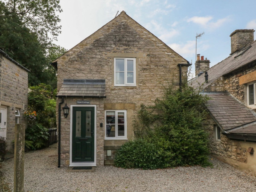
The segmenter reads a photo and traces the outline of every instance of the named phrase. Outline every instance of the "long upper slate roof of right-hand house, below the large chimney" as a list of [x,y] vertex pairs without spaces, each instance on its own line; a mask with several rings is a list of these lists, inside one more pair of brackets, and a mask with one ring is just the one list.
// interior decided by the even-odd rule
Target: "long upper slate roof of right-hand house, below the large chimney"
[[199,84],[203,84],[201,88],[204,90],[221,76],[231,73],[253,61],[256,62],[256,41],[253,41],[251,44],[241,49],[241,51],[233,53],[207,70],[208,83],[203,84],[205,82],[204,73],[199,77],[197,76],[194,79],[191,79],[189,82],[194,88],[198,88]]

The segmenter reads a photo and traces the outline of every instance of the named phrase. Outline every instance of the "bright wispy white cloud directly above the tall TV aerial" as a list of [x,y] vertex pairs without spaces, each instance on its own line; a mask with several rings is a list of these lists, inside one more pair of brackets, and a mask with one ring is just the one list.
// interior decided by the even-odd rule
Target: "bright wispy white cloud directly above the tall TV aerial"
[[226,23],[227,21],[230,20],[230,17],[224,17],[221,19],[218,19],[216,22],[210,22],[210,20],[212,20],[213,17],[211,16],[207,16],[207,17],[191,17],[187,20],[187,22],[193,22],[196,23],[198,25],[203,26],[204,28],[208,28],[208,29],[216,29],[220,26],[222,26],[224,23]]

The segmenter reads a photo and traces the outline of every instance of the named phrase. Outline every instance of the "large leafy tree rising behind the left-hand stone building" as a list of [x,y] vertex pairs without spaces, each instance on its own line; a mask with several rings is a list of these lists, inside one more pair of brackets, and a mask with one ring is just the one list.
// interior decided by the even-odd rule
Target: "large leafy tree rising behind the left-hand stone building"
[[50,84],[52,90],[57,80],[49,62],[66,51],[52,44],[48,37],[59,33],[59,19],[55,15],[55,11],[60,11],[58,3],[53,0],[9,0],[6,4],[0,1],[0,49],[31,71],[29,85]]

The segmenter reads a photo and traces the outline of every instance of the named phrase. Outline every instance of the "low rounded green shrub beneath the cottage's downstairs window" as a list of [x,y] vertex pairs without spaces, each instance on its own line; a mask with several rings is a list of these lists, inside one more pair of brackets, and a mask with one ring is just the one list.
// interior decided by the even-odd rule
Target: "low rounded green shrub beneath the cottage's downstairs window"
[[115,166],[122,168],[164,168],[165,151],[154,143],[138,139],[122,145],[117,151]]

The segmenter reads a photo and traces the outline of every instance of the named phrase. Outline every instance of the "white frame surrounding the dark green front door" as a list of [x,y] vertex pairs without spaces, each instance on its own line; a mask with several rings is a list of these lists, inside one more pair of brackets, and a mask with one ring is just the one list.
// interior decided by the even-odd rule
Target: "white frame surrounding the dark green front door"
[[[72,162],[72,125],[73,125],[73,107],[94,107],[94,162]],[[70,167],[75,166],[96,166],[96,105],[70,105]]]

